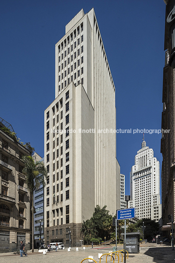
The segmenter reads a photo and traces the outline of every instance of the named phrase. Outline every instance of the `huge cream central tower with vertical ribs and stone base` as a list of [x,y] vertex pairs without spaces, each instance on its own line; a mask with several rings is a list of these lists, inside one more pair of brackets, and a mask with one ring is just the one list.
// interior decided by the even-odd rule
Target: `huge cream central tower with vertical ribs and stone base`
[[[45,239],[80,244],[96,205],[120,209],[115,86],[94,9],[55,46],[55,100],[45,110]],[[99,132],[99,130],[101,132]],[[108,132],[109,131],[109,132]]]

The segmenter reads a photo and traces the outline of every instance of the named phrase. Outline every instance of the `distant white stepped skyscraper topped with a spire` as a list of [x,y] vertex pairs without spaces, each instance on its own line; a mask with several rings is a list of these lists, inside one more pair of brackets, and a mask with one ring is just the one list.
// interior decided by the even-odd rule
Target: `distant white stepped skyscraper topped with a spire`
[[130,197],[128,207],[135,207],[137,218],[159,221],[162,214],[159,161],[154,157],[153,150],[146,146],[144,138],[130,172]]

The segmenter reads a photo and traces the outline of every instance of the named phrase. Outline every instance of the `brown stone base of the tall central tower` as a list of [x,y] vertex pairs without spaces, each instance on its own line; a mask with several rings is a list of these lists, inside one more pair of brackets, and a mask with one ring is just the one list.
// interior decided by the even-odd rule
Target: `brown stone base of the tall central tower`
[[81,233],[82,223],[64,224],[59,226],[47,227],[44,230],[45,242],[63,242],[65,247],[69,247],[69,227],[71,231],[71,246],[81,246],[83,234]]

